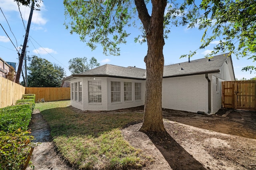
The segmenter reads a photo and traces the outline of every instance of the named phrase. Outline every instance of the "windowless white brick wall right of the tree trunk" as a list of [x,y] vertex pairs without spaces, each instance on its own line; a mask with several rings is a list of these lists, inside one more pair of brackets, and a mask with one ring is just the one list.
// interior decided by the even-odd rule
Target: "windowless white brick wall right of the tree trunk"
[[208,112],[208,81],[205,75],[163,78],[162,107]]

